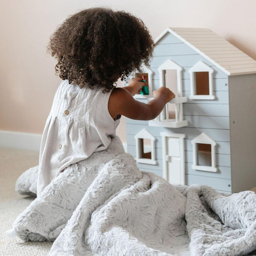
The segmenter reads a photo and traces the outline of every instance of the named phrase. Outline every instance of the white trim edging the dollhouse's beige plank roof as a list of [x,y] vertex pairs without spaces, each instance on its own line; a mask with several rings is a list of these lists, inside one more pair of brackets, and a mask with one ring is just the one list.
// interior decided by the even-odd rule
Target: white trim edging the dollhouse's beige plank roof
[[[175,28],[166,28],[157,38],[155,38],[154,40],[154,44],[157,44],[157,42],[164,36],[166,35],[166,33],[171,33],[172,35],[175,35],[178,39],[180,39],[180,41],[182,41],[183,43],[187,44],[189,47],[191,47],[192,49],[194,49],[196,52],[198,52],[200,55],[202,55],[204,58],[206,58],[208,61],[210,61],[213,65],[215,65],[216,67],[218,67],[220,70],[222,70],[224,73],[226,73],[228,76],[232,76],[232,75],[242,75],[242,74],[253,74],[256,73],[256,61],[255,61],[255,67],[253,65],[253,67],[251,68],[244,68],[244,70],[241,70],[241,68],[237,69],[237,70],[232,70],[230,68],[230,71],[227,70],[226,68],[222,67],[220,64],[218,64],[216,61],[214,61],[212,58],[210,58],[207,54],[205,54],[204,52],[202,52],[201,50],[199,50],[197,47],[195,47],[194,45],[192,45],[191,43],[189,43],[189,41],[186,41],[186,39],[184,39],[182,36],[178,35],[175,31]],[[188,28],[188,30],[193,31],[192,28]],[[200,29],[199,29],[200,30]],[[206,29],[205,29],[206,30]],[[209,32],[212,32],[209,29]],[[215,34],[216,35],[216,34]],[[218,36],[218,35],[217,35]],[[221,38],[221,37],[220,37]],[[226,41],[226,40],[225,40]],[[229,43],[227,41],[227,43]],[[229,43],[230,45],[232,45],[231,43]],[[232,45],[233,46],[233,45]],[[234,46],[233,46],[234,47]],[[236,49],[238,49],[237,47],[235,47]],[[241,51],[242,54],[244,54],[247,57],[250,57],[248,55],[246,55],[244,52]],[[224,57],[225,58],[225,57]],[[251,58],[251,57],[250,57]],[[253,61],[253,58],[251,58],[251,60]]]

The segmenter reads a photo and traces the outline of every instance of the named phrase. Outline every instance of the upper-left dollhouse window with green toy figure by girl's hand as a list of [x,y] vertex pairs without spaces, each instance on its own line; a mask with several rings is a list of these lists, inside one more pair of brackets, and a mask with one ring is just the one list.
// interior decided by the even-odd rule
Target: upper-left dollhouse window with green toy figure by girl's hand
[[146,66],[143,66],[141,70],[143,70],[142,73],[135,72],[134,74],[132,74],[134,77],[140,77],[142,81],[145,83],[140,93],[137,93],[136,95],[134,95],[134,98],[136,99],[152,98],[153,97],[153,94],[152,94],[153,71]]

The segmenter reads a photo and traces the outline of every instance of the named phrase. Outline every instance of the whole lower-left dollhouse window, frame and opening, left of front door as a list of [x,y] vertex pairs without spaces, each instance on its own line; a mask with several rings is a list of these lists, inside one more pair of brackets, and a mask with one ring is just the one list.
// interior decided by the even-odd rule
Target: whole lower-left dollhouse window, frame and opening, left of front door
[[135,136],[136,160],[138,163],[157,164],[155,157],[156,138],[146,129],[141,130]]

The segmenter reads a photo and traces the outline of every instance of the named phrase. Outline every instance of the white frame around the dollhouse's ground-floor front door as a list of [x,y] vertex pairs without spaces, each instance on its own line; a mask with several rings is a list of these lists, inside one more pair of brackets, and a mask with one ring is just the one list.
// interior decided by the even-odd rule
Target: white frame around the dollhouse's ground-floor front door
[[180,184],[185,185],[185,146],[184,146],[184,138],[186,134],[176,134],[171,132],[161,132],[162,137],[162,148],[163,148],[163,178],[170,182],[168,177],[168,144],[167,138],[168,137],[177,137],[180,139]]

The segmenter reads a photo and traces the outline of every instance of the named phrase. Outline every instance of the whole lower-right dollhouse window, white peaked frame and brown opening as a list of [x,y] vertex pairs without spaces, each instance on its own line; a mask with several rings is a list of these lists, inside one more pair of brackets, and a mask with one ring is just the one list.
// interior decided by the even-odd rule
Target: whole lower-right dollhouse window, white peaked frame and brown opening
[[192,169],[206,172],[217,172],[215,147],[217,143],[207,134],[202,133],[194,140],[193,145],[193,165]]

